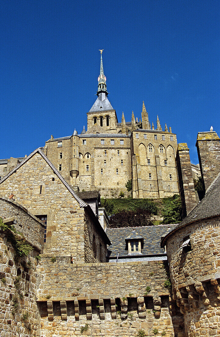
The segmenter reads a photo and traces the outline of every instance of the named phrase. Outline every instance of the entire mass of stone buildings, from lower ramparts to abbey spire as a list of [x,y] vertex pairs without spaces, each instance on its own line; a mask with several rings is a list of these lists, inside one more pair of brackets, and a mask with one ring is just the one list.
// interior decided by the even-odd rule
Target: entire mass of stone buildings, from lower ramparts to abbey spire
[[[101,56],[87,131],[0,160],[0,337],[220,336],[220,139],[118,123]],[[193,177],[201,176],[198,200]],[[178,224],[111,228],[100,195],[180,194]]]

